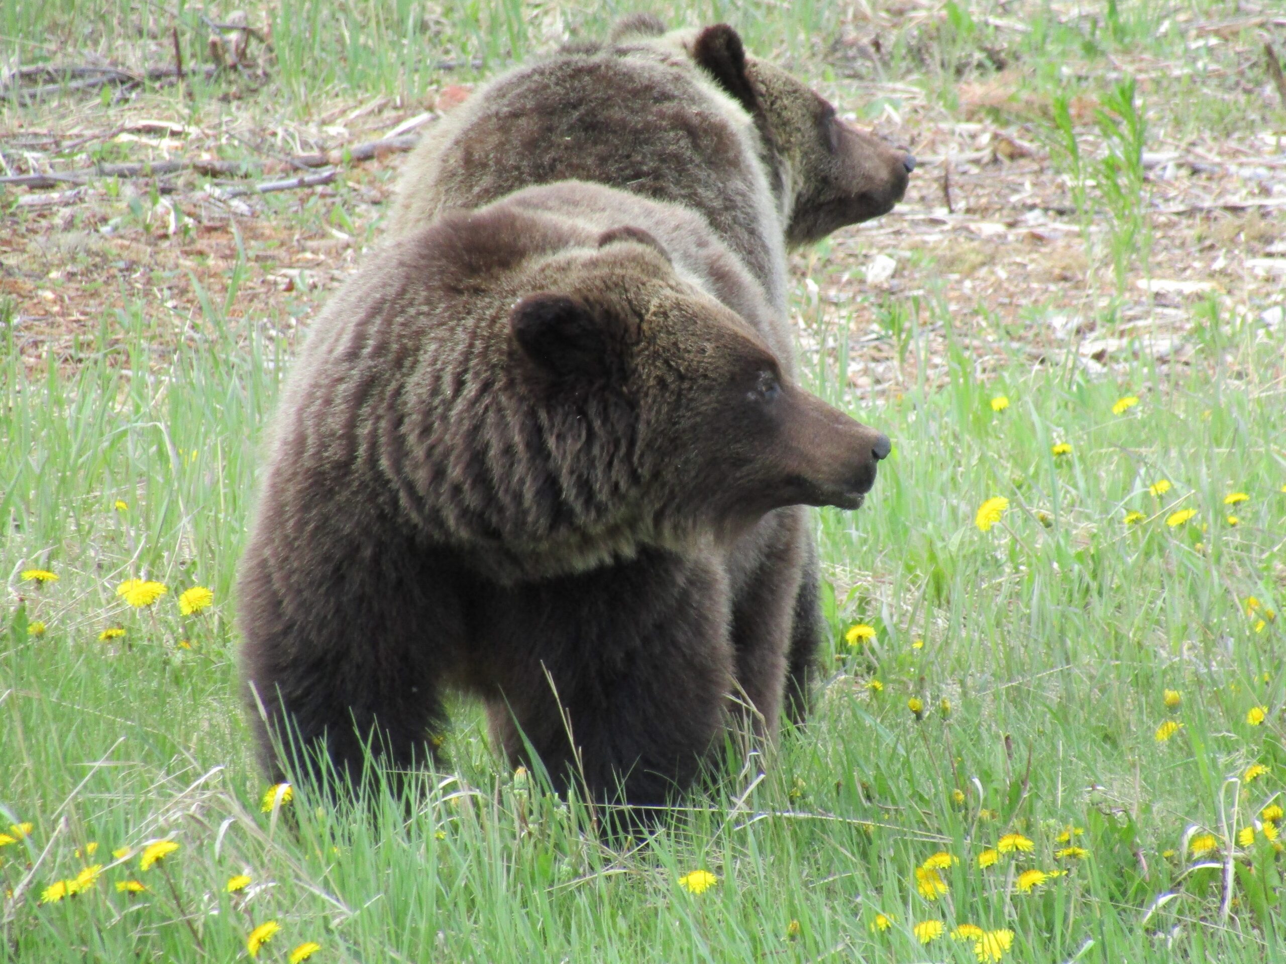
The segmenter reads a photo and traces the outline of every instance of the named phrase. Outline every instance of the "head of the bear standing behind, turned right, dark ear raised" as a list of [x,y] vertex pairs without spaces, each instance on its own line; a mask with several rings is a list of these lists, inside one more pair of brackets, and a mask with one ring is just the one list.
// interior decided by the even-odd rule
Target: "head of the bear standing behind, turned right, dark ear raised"
[[806,85],[746,55],[724,23],[684,44],[693,60],[755,120],[791,247],[887,213],[907,192],[916,158],[841,120]]

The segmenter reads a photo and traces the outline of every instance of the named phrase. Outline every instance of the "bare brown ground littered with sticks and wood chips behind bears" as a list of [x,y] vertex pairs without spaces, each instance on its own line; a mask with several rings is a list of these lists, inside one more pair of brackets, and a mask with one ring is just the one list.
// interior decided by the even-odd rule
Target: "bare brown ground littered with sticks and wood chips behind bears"
[[[1231,33],[1218,27],[1192,28],[1193,42],[1223,42]],[[1146,55],[1116,68],[1139,78],[1145,99],[1150,78],[1173,76]],[[1150,258],[1119,285],[1102,254],[1109,228],[1078,210],[1051,156],[1048,105],[1019,93],[1019,81],[999,71],[962,82],[950,112],[904,84],[822,85],[841,112],[896,102],[874,126],[919,158],[892,213],[793,260],[799,310],[819,306],[864,344],[850,369],[855,387],[896,391],[916,378],[913,365],[895,364],[889,314],[917,302],[927,306],[919,326],[940,333],[949,316],[983,373],[989,357],[1017,350],[1039,361],[1069,343],[1092,370],[1141,350],[1183,362],[1193,302],[1209,298],[1233,316],[1281,324],[1272,307],[1286,287],[1281,131],[1170,140],[1160,125],[1142,158]],[[117,311],[141,306],[159,357],[199,324],[202,289],[222,303],[242,257],[229,319],[293,328],[378,239],[401,152],[467,93],[449,85],[417,103],[338,99],[310,122],[270,125],[235,103],[185,111],[175,87],[138,94],[111,114],[94,89],[60,95],[0,132],[9,175],[0,198],[10,208],[0,229],[0,296],[17,303],[18,351],[28,366],[53,351],[75,368],[104,324],[108,343],[117,337]],[[1097,109],[1088,98],[1071,104],[1087,157],[1102,150]],[[96,167],[103,158],[134,167],[102,176],[122,170]],[[311,186],[247,188],[301,177]],[[930,356],[940,356],[943,339],[930,344]]]

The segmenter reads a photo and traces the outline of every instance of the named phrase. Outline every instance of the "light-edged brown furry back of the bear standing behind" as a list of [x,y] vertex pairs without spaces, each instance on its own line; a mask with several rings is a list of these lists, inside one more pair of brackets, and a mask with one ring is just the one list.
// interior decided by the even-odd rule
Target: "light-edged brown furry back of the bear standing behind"
[[558,54],[475,93],[427,135],[399,184],[394,234],[561,180],[700,212],[783,306],[779,215],[748,114],[664,49]]

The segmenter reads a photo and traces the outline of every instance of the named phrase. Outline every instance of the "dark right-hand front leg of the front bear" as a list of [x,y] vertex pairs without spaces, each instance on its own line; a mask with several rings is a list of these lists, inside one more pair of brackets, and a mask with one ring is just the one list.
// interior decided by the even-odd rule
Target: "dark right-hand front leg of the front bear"
[[693,783],[733,689],[721,564],[646,549],[512,587],[491,609],[489,715],[511,762],[526,758],[525,736],[559,792],[634,807]]

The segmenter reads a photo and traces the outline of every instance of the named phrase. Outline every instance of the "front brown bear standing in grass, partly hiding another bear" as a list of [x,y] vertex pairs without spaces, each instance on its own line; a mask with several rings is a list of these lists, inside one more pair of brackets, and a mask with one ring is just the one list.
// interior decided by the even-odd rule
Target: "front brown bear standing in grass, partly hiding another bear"
[[730,548],[781,506],[856,508],[889,451],[727,303],[769,311],[700,217],[598,185],[368,260],[288,378],[242,560],[275,776],[288,733],[341,775],[364,744],[424,762],[454,689],[559,788],[691,784],[734,702]]

